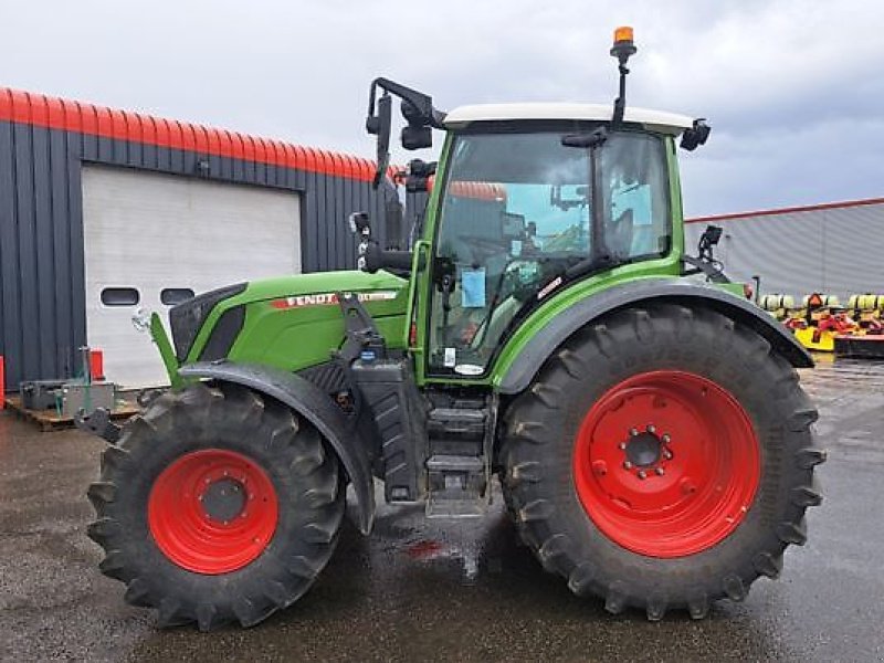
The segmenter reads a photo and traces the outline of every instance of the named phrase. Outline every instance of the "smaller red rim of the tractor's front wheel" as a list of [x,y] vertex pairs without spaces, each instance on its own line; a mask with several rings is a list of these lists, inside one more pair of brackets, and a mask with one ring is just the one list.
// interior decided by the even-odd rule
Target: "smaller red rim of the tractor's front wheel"
[[197,573],[228,573],[252,562],[276,530],[276,491],[241,453],[204,449],[166,467],[147,505],[150,534],[172,562]]

